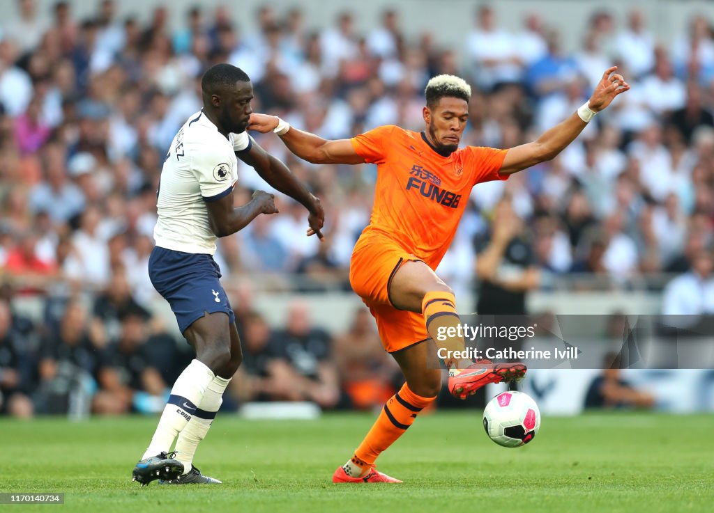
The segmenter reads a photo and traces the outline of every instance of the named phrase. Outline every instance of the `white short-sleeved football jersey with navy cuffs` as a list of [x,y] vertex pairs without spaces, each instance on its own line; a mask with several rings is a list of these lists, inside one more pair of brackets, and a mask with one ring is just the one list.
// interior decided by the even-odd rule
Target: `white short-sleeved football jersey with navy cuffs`
[[243,132],[223,137],[201,112],[178,130],[161,170],[154,227],[156,245],[186,253],[216,252],[206,202],[228,195],[238,180],[236,151],[248,150]]

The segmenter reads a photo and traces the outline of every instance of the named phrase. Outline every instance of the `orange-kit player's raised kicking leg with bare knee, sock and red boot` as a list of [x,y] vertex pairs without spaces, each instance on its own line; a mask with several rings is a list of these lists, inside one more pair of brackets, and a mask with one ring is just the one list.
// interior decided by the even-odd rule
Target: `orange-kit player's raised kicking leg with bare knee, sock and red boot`
[[[463,351],[463,338],[449,336],[448,328],[456,328],[460,322],[453,291],[424,262],[404,263],[392,278],[389,297],[398,309],[423,314],[426,329],[439,348]],[[473,363],[455,358],[444,358],[444,363],[449,370],[449,391],[462,399],[486,383],[508,382],[526,373],[523,363]]]

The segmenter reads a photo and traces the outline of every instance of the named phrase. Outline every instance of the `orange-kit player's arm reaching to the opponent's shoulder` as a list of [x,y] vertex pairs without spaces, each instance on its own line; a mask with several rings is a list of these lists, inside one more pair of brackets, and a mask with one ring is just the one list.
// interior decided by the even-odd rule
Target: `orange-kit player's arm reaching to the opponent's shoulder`
[[251,114],[248,130],[260,133],[275,132],[288,150],[313,164],[363,164],[348,139],[326,140],[318,135],[291,127],[277,116]]

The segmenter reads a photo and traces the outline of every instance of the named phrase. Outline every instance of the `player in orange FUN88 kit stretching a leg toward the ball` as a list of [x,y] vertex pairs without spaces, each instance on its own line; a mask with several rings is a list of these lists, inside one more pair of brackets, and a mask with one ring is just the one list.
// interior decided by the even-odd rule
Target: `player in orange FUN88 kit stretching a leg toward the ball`
[[[471,87],[449,75],[432,78],[426,86],[426,130],[421,133],[387,125],[351,139],[324,140],[275,116],[251,115],[248,130],[272,130],[308,162],[371,162],[378,169],[372,216],[353,250],[350,283],[376,319],[384,347],[401,367],[406,383],[387,401],[354,456],[338,467],[333,482],[401,482],[378,472],[374,462],[436,399],[441,370],[428,365],[436,359],[436,344],[451,351],[463,349],[463,338],[438,341],[437,333],[443,338],[459,318],[453,291],[434,269],[451,244],[471,188],[506,180],[558,155],[595,113],[630,88],[616,69],[603,73],[590,100],[568,119],[510,150],[458,147],[468,121]],[[508,382],[526,373],[522,363],[472,365],[453,358],[445,362],[449,391],[459,398],[486,383]]]

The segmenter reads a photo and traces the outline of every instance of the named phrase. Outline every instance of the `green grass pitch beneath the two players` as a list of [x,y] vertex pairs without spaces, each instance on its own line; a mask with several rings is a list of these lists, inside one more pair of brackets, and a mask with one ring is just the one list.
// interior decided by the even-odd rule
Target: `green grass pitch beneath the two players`
[[[248,421],[219,415],[196,463],[218,487],[131,482],[156,418],[0,420],[0,492],[64,492],[30,512],[708,512],[713,415],[543,418],[518,449],[488,440],[480,412],[423,415],[379,460],[401,485],[336,485],[372,415]],[[16,509],[10,509],[16,508]]]

